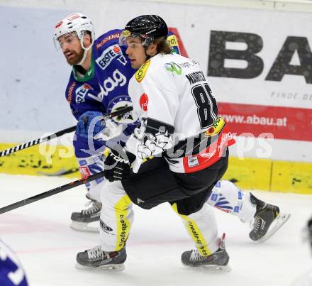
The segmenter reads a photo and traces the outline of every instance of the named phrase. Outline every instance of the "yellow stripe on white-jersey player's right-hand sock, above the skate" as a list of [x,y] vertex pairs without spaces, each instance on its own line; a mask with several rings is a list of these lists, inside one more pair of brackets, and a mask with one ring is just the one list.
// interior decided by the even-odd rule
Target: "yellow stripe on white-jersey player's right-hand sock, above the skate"
[[[177,204],[172,204],[172,209],[174,209],[174,211],[179,214]],[[190,219],[189,216],[185,216],[184,214],[179,214],[179,216],[182,217],[184,225],[186,226],[187,231],[189,231],[189,234],[193,239],[199,253],[204,256],[211,255],[211,251],[208,248],[208,243],[201,234],[201,230],[199,229],[199,226],[197,226],[196,221],[194,221],[194,219]]]

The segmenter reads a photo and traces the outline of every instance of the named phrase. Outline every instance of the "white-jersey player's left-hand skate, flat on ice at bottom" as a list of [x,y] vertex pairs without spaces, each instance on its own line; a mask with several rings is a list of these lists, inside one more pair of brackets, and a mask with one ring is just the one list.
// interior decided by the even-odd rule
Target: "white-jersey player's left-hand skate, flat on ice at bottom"
[[84,252],[77,254],[77,263],[75,268],[77,269],[106,269],[106,270],[124,270],[123,263],[126,261],[127,253],[126,248],[122,248],[120,251],[102,251],[101,246],[96,246]]

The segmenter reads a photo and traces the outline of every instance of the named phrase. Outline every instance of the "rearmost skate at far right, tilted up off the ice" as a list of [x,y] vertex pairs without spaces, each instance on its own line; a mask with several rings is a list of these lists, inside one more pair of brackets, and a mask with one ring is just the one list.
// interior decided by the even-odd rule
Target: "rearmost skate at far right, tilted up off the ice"
[[250,200],[253,204],[257,204],[257,211],[249,237],[252,241],[266,241],[285,224],[290,214],[281,214],[279,207],[266,204],[260,199],[257,199],[253,194],[250,194]]

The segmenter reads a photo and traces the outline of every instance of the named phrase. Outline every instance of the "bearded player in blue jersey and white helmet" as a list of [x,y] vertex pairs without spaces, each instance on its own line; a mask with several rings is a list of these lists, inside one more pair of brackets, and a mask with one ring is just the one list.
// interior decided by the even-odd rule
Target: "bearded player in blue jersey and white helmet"
[[[91,20],[82,13],[72,13],[55,26],[55,45],[62,50],[67,63],[72,66],[65,94],[75,119],[110,113],[130,105],[127,81],[135,70],[130,67],[126,54],[118,46],[120,33],[121,30],[112,30],[96,39]],[[131,114],[119,116],[115,120],[128,123],[127,118],[131,118]],[[79,127],[84,128],[83,124]],[[104,127],[98,121],[94,126],[94,134]],[[82,177],[104,170],[104,148],[105,141],[88,141],[75,134],[74,154]],[[98,231],[98,227],[91,223],[99,221],[99,189],[103,183],[104,178],[100,178],[86,184],[91,207],[72,213],[73,229]]]

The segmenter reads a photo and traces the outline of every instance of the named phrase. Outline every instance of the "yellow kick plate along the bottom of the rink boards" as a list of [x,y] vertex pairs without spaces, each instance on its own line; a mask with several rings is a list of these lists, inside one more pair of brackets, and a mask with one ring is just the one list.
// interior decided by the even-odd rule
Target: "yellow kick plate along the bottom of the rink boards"
[[[11,147],[13,144],[0,144],[0,150]],[[79,168],[72,147],[52,145],[53,153],[48,155],[47,153],[42,155],[42,152],[40,154],[39,148],[34,146],[1,157],[0,173],[79,177]],[[64,154],[68,155],[64,157]],[[242,189],[312,194],[312,163],[230,157],[224,178],[232,180]]]

